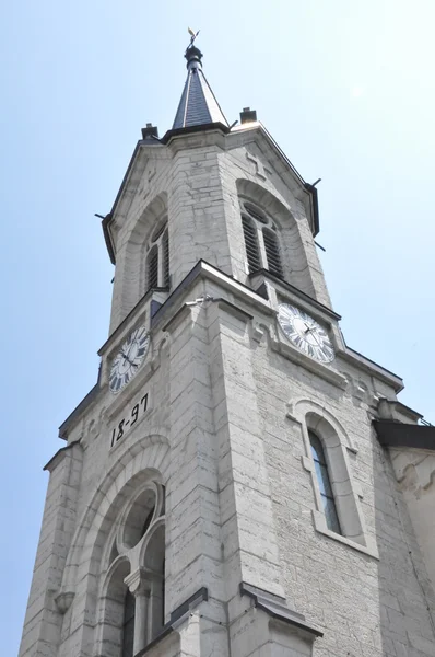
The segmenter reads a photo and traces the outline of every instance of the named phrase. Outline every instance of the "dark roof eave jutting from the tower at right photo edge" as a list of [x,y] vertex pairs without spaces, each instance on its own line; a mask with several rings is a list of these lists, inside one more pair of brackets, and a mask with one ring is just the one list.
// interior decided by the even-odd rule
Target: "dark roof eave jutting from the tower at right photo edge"
[[390,419],[375,419],[373,426],[383,447],[408,447],[435,451],[434,426],[404,424]]

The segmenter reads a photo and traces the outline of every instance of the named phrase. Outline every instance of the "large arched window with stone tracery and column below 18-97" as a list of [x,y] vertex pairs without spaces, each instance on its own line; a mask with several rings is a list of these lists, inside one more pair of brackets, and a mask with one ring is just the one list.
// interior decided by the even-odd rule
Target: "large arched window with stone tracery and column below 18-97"
[[[144,505],[146,498],[150,504]],[[150,511],[152,520],[148,522]],[[164,569],[162,574],[157,562],[162,550],[163,563],[165,561],[164,512],[164,486],[154,480],[148,481],[134,489],[107,538],[102,558],[106,567],[102,568],[105,573],[98,596],[96,637],[99,652],[107,657],[124,657],[127,590],[136,599],[132,654],[144,649],[163,630]],[[140,535],[141,522],[145,523],[143,535]]]

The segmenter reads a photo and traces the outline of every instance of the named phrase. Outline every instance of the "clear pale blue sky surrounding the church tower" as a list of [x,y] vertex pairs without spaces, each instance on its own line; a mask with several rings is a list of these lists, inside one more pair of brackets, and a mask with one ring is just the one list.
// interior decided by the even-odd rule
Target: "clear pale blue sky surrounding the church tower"
[[15,0],[0,10],[2,655],[21,636],[57,428],[94,385],[99,220],[140,128],[172,125],[187,26],[230,123],[250,105],[318,186],[348,344],[435,423],[433,0]]

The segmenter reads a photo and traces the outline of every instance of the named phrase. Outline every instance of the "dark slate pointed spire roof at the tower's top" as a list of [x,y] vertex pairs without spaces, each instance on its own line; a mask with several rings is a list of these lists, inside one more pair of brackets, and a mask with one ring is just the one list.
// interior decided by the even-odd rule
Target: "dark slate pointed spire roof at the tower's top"
[[221,123],[230,127],[202,72],[202,53],[196,46],[190,46],[187,48],[185,57],[187,59],[187,80],[173,130],[213,123]]

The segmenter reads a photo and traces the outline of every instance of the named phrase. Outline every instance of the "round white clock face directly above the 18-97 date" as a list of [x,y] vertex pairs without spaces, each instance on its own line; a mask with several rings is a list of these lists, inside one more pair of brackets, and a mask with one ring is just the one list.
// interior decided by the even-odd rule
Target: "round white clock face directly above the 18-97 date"
[[144,326],[136,328],[119,349],[110,369],[109,387],[114,394],[138,372],[150,346],[150,337]]

